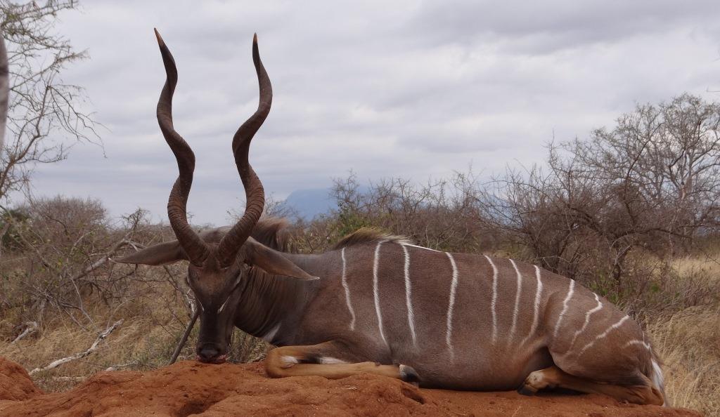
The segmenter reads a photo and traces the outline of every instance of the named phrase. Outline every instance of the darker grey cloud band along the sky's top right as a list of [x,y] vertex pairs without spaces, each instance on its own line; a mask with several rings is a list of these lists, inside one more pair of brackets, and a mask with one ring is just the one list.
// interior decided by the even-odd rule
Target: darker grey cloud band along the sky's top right
[[[434,42],[504,40],[510,50],[552,52],[616,42],[683,24],[717,25],[716,2],[693,1],[444,1],[427,2],[409,26]],[[410,29],[412,30],[412,29]],[[513,47],[514,46],[514,47]]]

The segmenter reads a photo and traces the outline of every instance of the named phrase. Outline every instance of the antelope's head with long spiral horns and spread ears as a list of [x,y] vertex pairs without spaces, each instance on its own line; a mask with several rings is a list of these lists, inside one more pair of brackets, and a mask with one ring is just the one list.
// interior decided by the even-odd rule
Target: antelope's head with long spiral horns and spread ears
[[195,155],[175,131],[172,98],[177,83],[177,68],[163,39],[155,31],[163,56],[167,80],[158,101],[158,123],[178,164],[179,175],[168,200],[168,218],[176,241],[157,244],[140,250],[117,262],[143,265],[164,265],[180,260],[189,261],[187,281],[200,308],[200,334],[196,346],[202,362],[225,361],[233,334],[235,310],[240,301],[243,282],[250,266],[276,275],[301,280],[316,279],[263,244],[250,234],[264,209],[263,185],[248,162],[251,139],[269,114],[272,102],[270,79],[258,52],[257,37],[253,38],[253,62],[260,84],[258,109],[233,137],[233,155],[246,193],[243,217],[220,239],[204,239],[188,224],[186,204],[195,169]]

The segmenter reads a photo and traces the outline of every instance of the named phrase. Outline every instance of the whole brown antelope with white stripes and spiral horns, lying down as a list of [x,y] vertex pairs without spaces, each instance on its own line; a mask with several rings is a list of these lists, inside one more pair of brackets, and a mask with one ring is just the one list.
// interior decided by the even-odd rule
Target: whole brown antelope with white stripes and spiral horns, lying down
[[325,253],[284,251],[283,223],[261,219],[264,191],[248,162],[272,100],[256,36],[258,110],[233,137],[246,211],[231,227],[194,232],[186,218],[194,154],[173,128],[177,70],[156,35],[167,77],[158,122],[179,168],[168,201],[177,240],[117,262],[189,261],[187,279],[201,309],[197,359],[224,362],[235,326],[276,346],[265,362],[271,377],[369,372],[421,387],[527,395],[559,387],[666,402],[659,360],[640,326],[574,280],[371,229]]

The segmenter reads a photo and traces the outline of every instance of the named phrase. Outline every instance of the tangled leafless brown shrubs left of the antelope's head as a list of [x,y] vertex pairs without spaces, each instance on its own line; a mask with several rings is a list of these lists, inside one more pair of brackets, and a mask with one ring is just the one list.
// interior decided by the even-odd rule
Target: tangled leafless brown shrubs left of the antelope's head
[[0,313],[10,313],[13,327],[36,321],[42,329],[60,313],[81,329],[98,331],[121,310],[127,313],[131,304],[147,299],[171,317],[157,320],[170,326],[168,333],[183,328],[188,315],[183,310],[191,304],[183,275],[169,267],[152,274],[111,262],[125,248],[168,238],[163,227],[148,224],[143,211],[111,224],[99,201],[55,197],[14,212],[24,217],[6,213],[14,240],[0,263]]

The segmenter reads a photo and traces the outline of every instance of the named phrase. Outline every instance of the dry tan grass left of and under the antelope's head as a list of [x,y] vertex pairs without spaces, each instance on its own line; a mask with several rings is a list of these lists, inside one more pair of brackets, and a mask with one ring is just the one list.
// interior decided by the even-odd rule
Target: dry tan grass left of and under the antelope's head
[[[160,273],[160,271],[155,270]],[[9,329],[9,319],[22,316],[22,311],[9,311],[0,319],[0,356],[19,363],[28,371],[44,367],[50,362],[88,349],[100,331],[118,319],[124,323],[100,344],[99,349],[88,357],[68,362],[60,367],[32,375],[35,384],[46,392],[67,390],[96,372],[115,367],[122,370],[149,370],[167,365],[189,321],[186,307],[179,299],[168,294],[174,289],[160,281],[135,283],[138,293],[145,296],[122,303],[121,308],[109,308],[95,301],[86,304],[95,320],[95,329],[82,329],[67,316],[55,314],[42,326],[41,331],[11,344],[14,335]],[[161,297],[158,294],[165,293]],[[163,300],[175,300],[175,303]],[[4,326],[2,325],[4,322]],[[189,341],[185,344],[179,360],[193,359],[194,339],[199,325],[196,324]],[[233,335],[231,362],[253,362],[265,357],[269,345],[242,331]]]

